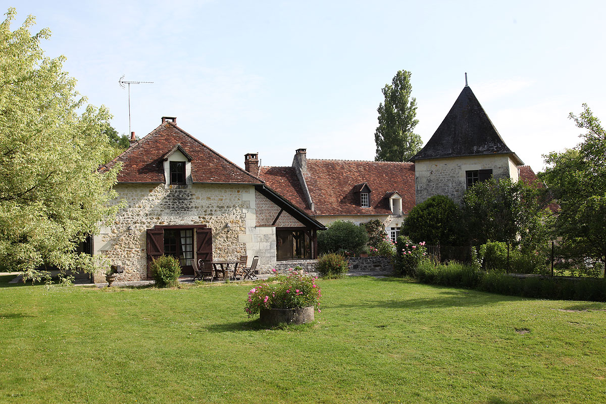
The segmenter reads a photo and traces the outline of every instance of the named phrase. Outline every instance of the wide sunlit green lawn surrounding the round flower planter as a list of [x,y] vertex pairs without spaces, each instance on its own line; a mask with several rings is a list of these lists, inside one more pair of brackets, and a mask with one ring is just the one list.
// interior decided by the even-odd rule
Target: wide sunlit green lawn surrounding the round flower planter
[[0,403],[606,397],[606,303],[358,277],[319,282],[315,325],[265,330],[243,310],[250,284],[46,290],[7,281],[0,276]]

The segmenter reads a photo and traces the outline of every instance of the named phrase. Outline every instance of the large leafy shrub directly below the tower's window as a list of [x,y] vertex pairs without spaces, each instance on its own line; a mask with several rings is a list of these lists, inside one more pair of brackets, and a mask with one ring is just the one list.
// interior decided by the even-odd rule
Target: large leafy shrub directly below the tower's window
[[462,217],[474,245],[488,240],[528,250],[547,240],[544,190],[511,179],[476,182],[465,191]]

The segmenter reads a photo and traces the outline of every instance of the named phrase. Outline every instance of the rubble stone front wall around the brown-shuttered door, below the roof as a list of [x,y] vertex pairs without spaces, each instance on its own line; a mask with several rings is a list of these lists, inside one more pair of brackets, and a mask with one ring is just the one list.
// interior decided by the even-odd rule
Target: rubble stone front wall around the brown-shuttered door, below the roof
[[[120,281],[147,277],[146,230],[155,225],[207,225],[213,230],[213,259],[257,253],[247,248],[259,247],[253,245],[256,234],[250,234],[255,233],[253,186],[195,184],[166,189],[164,184],[121,183],[115,189],[119,197],[114,202],[125,200],[127,207],[119,210],[112,224],[101,228],[95,237],[95,254],[124,268]],[[95,274],[95,282],[102,279],[103,274]]]

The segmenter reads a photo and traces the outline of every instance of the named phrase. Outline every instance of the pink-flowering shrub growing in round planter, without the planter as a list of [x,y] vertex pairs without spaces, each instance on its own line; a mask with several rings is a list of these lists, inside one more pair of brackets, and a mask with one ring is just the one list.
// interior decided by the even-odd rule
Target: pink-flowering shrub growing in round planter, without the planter
[[248,317],[252,317],[262,308],[291,309],[314,306],[319,313],[322,293],[316,285],[316,279],[318,278],[293,270],[288,276],[278,277],[278,283],[261,283],[248,292],[244,311]]

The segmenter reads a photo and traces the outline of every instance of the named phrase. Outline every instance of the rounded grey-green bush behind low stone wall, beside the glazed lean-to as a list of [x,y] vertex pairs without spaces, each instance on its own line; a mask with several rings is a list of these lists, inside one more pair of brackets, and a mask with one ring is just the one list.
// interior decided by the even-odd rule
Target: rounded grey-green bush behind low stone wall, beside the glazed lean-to
[[368,242],[364,225],[356,225],[345,220],[336,220],[327,230],[318,231],[318,251],[320,254],[344,251],[358,255]]

